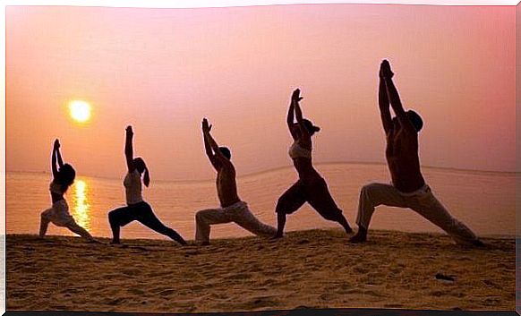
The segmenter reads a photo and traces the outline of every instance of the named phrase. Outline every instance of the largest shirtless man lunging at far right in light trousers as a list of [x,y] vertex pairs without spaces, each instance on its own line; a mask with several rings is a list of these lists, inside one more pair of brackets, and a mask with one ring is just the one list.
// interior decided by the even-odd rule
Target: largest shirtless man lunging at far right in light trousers
[[[350,241],[363,243],[367,239],[367,229],[374,208],[379,205],[409,208],[439,226],[457,243],[483,246],[483,243],[465,224],[453,218],[448,210],[434,197],[431,188],[425,184],[420,171],[418,157],[418,132],[423,127],[420,115],[405,111],[397,89],[392,81],[390,64],[384,60],[380,64],[379,106],[383,129],[387,136],[385,151],[392,184],[367,184],[360,192],[358,232]],[[395,117],[389,111],[393,108]]]

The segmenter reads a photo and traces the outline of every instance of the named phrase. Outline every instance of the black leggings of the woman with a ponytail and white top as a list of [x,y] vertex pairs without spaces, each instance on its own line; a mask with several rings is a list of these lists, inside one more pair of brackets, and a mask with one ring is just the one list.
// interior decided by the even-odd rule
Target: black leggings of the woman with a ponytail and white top
[[136,204],[130,204],[123,208],[114,209],[108,213],[108,222],[110,228],[112,228],[112,234],[114,235],[113,243],[119,243],[119,229],[132,221],[137,220],[144,226],[158,232],[161,235],[167,235],[177,243],[186,244],[183,237],[174,229],[165,226],[156,217],[149,203],[141,201]]

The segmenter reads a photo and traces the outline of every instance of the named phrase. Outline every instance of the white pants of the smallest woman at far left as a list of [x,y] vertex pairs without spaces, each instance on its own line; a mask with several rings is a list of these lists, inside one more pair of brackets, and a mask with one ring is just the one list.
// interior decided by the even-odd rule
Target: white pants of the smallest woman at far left
[[50,209],[46,209],[41,213],[39,235],[43,237],[47,233],[49,223],[56,226],[63,226],[69,228],[73,233],[81,235],[81,237],[92,240],[92,235],[89,234],[85,228],[76,224],[74,218],[69,214],[69,205],[67,201],[56,201]]

